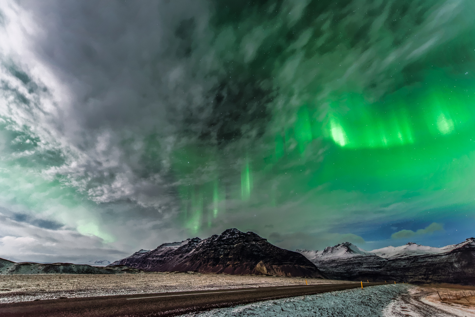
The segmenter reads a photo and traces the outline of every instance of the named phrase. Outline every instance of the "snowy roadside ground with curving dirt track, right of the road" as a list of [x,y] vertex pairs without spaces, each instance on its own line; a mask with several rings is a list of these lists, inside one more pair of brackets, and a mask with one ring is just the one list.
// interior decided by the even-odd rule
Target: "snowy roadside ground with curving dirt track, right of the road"
[[[334,291],[236,307],[190,313],[181,317],[473,317],[475,305],[442,303],[437,289],[408,284]],[[440,289],[439,289],[440,292]],[[435,294],[435,295],[434,295]],[[457,306],[456,306],[457,305]]]

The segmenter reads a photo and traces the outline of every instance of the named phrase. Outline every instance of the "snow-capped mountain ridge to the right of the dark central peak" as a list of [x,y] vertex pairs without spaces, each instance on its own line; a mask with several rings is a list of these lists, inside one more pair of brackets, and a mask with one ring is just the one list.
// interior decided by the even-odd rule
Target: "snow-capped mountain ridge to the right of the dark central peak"
[[366,251],[345,242],[323,251],[297,250],[329,279],[475,285],[475,239],[442,248],[409,242]]

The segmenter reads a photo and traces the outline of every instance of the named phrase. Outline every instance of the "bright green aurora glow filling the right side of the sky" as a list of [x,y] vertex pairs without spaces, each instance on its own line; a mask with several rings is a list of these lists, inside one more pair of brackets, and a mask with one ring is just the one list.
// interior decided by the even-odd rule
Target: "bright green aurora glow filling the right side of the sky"
[[[355,2],[361,5],[364,1]],[[450,209],[453,204],[473,203],[472,178],[464,176],[474,173],[473,163],[469,163],[473,162],[475,142],[473,19],[455,22],[454,18],[446,25],[438,25],[440,29],[433,29],[431,36],[448,29],[449,24],[460,23],[460,31],[455,38],[434,45],[418,58],[409,57],[428,46],[431,39],[414,49],[409,57],[401,52],[401,56],[391,58],[391,54],[397,55],[394,50],[403,47],[400,50],[404,51],[404,46],[410,45],[405,39],[407,35],[418,34],[410,29],[425,27],[409,22],[410,5],[375,4],[374,18],[364,19],[363,26],[352,29],[358,14],[352,17],[342,13],[339,17],[333,11],[335,20],[331,21],[328,12],[312,14],[320,3],[308,4],[302,18],[292,27],[283,22],[279,25],[279,15],[272,19],[260,14],[265,8],[259,11],[258,6],[235,11],[247,19],[221,19],[226,21],[219,25],[221,32],[237,37],[233,42],[241,43],[241,47],[250,36],[248,32],[254,38],[261,36],[258,49],[252,52],[252,62],[248,61],[251,58],[246,61],[246,55],[245,66],[239,65],[239,60],[232,61],[233,67],[247,73],[228,72],[233,77],[253,78],[252,84],[267,88],[273,95],[263,110],[269,116],[263,124],[265,132],[259,137],[244,132],[241,137],[248,140],[234,148],[203,142],[180,149],[180,156],[175,156],[186,157],[172,165],[180,179],[190,176],[191,171],[212,171],[206,180],[182,186],[187,193],[180,195],[186,210],[184,224],[192,231],[213,225],[210,209],[206,208],[211,200],[213,218],[227,212],[227,200],[238,204],[238,209],[248,209],[250,214],[256,209],[272,210],[295,203],[298,207],[289,213],[295,213],[296,219],[304,223],[323,221],[335,214],[354,221],[362,212],[357,206],[367,208],[366,213],[374,221],[384,222],[378,218],[404,221],[410,214],[417,219],[428,210],[441,209],[445,213],[445,208]],[[431,7],[426,7],[428,11],[422,14],[428,20],[431,14],[440,15],[441,7],[447,6],[445,1],[438,2],[440,7],[427,1],[419,4]],[[266,18],[259,19],[259,15]],[[381,18],[386,20],[378,22]],[[380,30],[381,34],[367,35],[361,30],[371,29],[376,23],[386,33]],[[339,36],[323,48],[322,37],[331,35],[322,35],[319,28],[333,28],[331,33]],[[292,38],[287,45],[283,40],[276,41],[283,34]],[[218,36],[216,42],[221,44],[220,41],[224,39]],[[376,46],[372,49],[380,49],[381,55],[371,55],[368,49],[365,53],[370,56],[364,58],[363,47],[371,47],[372,41]],[[391,54],[384,54],[384,48],[390,49]],[[339,68],[339,63],[346,67]],[[374,68],[384,63],[386,68],[374,74]],[[333,82],[325,83],[329,79]],[[343,83],[335,83],[338,80]],[[251,129],[249,134],[259,133],[252,127],[243,130],[246,128]],[[235,172],[231,173],[233,169]],[[441,193],[443,190],[451,194]],[[418,196],[418,202],[410,203],[409,196]],[[393,211],[382,211],[387,205],[400,203],[404,204]],[[354,208],[343,206],[350,204]],[[377,216],[378,213],[381,214]],[[465,209],[461,213],[465,216]],[[456,211],[449,214],[457,217]],[[473,221],[473,212],[471,215]],[[444,218],[437,212],[433,216],[437,221]],[[296,227],[292,222],[288,224]],[[308,225],[315,224],[310,221]]]

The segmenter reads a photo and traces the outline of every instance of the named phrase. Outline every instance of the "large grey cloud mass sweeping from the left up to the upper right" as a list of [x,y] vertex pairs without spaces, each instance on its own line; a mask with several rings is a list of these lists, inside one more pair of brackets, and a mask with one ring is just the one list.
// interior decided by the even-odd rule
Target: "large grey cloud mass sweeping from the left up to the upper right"
[[[343,7],[341,14],[323,6],[319,19],[314,16],[312,26],[307,23],[305,28],[298,21],[308,19],[302,12],[309,1],[285,1],[282,7],[277,1],[273,7],[269,3],[268,19],[250,10],[246,16],[220,21],[219,28],[215,20],[220,17],[213,14],[223,5],[221,1],[18,3],[36,23],[34,36],[22,34],[31,43],[34,60],[20,57],[4,63],[8,76],[2,77],[2,85],[5,94],[15,98],[10,115],[19,126],[35,127],[25,135],[41,141],[37,147],[41,151],[30,149],[42,153],[37,158],[27,148],[21,149],[24,155],[31,154],[24,162],[42,160],[45,177],[93,201],[87,210],[118,236],[115,243],[120,250],[139,243],[150,249],[159,239],[179,240],[185,230],[173,219],[180,209],[177,185],[200,185],[212,173],[221,172],[223,183],[232,187],[229,175],[239,175],[244,153],[273,151],[259,140],[292,124],[296,106],[320,102],[332,91],[355,83],[358,88],[373,87],[374,98],[381,96],[395,83],[391,76],[404,72],[404,67],[458,31],[447,26],[460,13],[454,1],[435,9],[432,2],[422,1],[422,9],[433,13],[419,24],[417,13],[408,14],[400,23],[414,28],[404,35],[410,39],[405,39],[395,37],[384,25],[390,13],[399,17],[389,11],[396,1],[381,5],[358,0],[348,6],[337,1],[334,5]],[[371,16],[361,34],[353,34],[352,26],[366,10],[379,13]],[[302,36],[290,34],[294,26]],[[340,34],[354,40],[346,41]],[[394,48],[393,42],[399,46]],[[302,48],[309,53],[302,53]],[[270,56],[277,50],[284,53]],[[400,65],[392,69],[389,65],[395,61]],[[34,75],[35,63],[49,69],[60,84]],[[265,67],[257,71],[253,63]],[[340,64],[341,71],[323,67]],[[314,117],[322,125],[326,107]],[[18,131],[8,136],[9,142],[17,137],[27,140]],[[209,164],[190,173],[172,174],[173,151],[190,144],[207,147],[200,150],[211,157]],[[296,146],[295,140],[289,144]],[[218,157],[218,151],[226,156]],[[318,166],[323,152],[320,140],[315,140],[306,156],[287,161],[282,169],[313,161]],[[255,189],[256,197],[266,197],[273,186],[285,187],[282,200],[294,194],[287,190],[284,175],[255,176],[265,185],[265,190]],[[236,213],[204,231],[248,221],[242,212],[247,206],[232,199],[226,205]],[[284,211],[277,212],[285,216]],[[160,232],[149,234],[147,229]],[[305,237],[298,234],[286,238],[293,245],[305,244]]]

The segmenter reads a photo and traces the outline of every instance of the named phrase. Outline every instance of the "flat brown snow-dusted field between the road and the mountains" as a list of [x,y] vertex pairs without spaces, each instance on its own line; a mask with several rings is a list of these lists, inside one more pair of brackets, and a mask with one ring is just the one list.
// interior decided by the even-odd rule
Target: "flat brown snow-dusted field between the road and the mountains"
[[[306,279],[308,284],[348,283]],[[223,288],[305,285],[304,278],[201,273],[0,275],[0,303]]]

